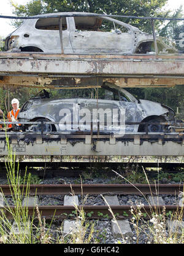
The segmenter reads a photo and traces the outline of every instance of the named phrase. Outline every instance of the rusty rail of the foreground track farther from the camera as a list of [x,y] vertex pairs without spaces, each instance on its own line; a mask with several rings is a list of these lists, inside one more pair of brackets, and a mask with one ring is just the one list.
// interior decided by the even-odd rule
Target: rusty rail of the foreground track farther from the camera
[[[9,185],[0,185],[4,195],[11,195]],[[72,189],[71,189],[72,188]],[[21,192],[26,193],[25,186],[20,185]],[[178,195],[183,191],[183,184],[49,184],[30,185],[29,195],[98,195],[108,193],[119,193],[121,195]]]

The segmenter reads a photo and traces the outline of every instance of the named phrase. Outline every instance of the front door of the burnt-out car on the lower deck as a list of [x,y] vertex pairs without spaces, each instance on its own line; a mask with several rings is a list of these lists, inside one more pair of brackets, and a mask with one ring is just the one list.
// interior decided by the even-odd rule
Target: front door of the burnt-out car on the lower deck
[[[99,95],[98,95],[99,93]],[[99,97],[98,97],[99,96]],[[82,131],[91,131],[101,134],[125,133],[125,112],[118,101],[114,99],[112,91],[103,88],[93,89],[93,97],[77,99],[79,108],[79,128]]]

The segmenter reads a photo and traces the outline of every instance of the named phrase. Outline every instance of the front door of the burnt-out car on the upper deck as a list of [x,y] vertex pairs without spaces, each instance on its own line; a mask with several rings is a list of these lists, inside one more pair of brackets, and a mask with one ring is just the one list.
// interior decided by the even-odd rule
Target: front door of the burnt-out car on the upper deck
[[101,25],[99,26],[101,29],[98,29],[94,25],[99,21],[92,21],[92,18],[94,17],[73,18],[75,29],[71,30],[69,37],[74,53],[132,53],[134,48],[134,33],[115,23],[115,21],[107,21],[105,19],[105,22],[108,24],[104,23],[104,26]]

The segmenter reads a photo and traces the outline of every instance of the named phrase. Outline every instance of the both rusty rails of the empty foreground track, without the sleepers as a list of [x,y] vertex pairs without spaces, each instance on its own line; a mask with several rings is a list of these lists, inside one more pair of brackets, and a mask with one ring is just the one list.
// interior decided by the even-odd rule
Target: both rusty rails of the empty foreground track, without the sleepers
[[[1,185],[1,191],[4,195],[11,195],[10,186],[9,185]],[[23,190],[23,185],[20,185],[20,190],[22,193],[25,193],[25,187]],[[180,192],[183,192],[182,184],[150,184],[150,185],[142,185],[142,184],[115,184],[115,185],[104,185],[104,184],[94,184],[94,185],[30,185],[29,188],[29,196],[43,196],[43,195],[71,195],[71,193],[75,196],[81,195],[103,195],[103,196],[117,196],[117,195],[178,195]],[[150,215],[153,212],[162,212],[164,204],[152,204],[145,205],[142,208],[142,213],[144,214],[144,219],[149,219]],[[177,204],[175,205],[166,205],[166,214],[174,214],[175,212],[182,212],[183,215],[183,207]],[[11,210],[15,210],[15,206],[10,206]],[[104,217],[108,217],[112,219],[112,214],[109,211],[109,206],[107,204],[94,206],[94,205],[85,205],[79,204],[78,208],[83,208],[86,212],[86,217],[89,219],[102,219]],[[110,204],[110,208],[112,209],[113,214],[117,215],[117,219],[128,219],[132,217],[131,214],[131,205],[120,205],[116,203]],[[45,219],[52,219],[55,216],[56,219],[67,219],[68,217],[75,218],[77,215],[77,211],[74,205],[52,205],[52,206],[43,206],[39,205],[39,211],[42,214],[42,217]],[[11,218],[11,211],[7,211],[7,217]],[[36,213],[35,206],[28,207],[28,214],[33,215]]]

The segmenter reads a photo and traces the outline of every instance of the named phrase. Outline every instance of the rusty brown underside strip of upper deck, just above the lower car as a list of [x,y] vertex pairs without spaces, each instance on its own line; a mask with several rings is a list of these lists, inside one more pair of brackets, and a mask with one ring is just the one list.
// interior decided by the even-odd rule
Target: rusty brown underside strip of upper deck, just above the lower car
[[105,77],[33,77],[0,76],[0,86],[36,88],[83,88],[98,87],[103,82],[114,83],[120,87],[173,87],[183,85],[183,78],[105,78]]

